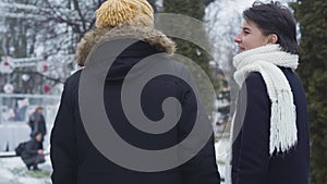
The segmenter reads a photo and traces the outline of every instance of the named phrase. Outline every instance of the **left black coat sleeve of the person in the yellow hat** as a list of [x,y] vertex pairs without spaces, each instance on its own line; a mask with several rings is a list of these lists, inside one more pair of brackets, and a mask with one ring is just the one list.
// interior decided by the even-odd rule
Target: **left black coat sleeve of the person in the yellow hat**
[[55,120],[50,137],[50,158],[53,172],[53,184],[75,184],[77,171],[77,148],[74,134],[73,109],[65,83],[60,107]]

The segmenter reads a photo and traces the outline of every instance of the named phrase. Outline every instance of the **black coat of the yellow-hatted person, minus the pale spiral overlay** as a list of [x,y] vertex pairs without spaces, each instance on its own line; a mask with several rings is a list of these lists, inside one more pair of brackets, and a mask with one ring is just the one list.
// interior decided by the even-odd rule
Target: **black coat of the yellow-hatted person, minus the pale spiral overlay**
[[[128,32],[131,34],[131,30]],[[194,101],[194,94],[191,91],[190,86],[180,78],[164,75],[154,78],[145,87],[142,94],[143,111],[149,119],[160,120],[162,118],[162,100],[167,97],[175,97],[183,108],[178,125],[167,133],[154,135],[136,130],[124,116],[121,107],[121,87],[124,76],[140,60],[158,52],[158,47],[153,47],[153,45],[161,46],[165,50],[166,46],[162,44],[162,37],[155,37],[150,44],[137,41],[124,50],[110,68],[104,88],[107,115],[110,118],[114,131],[129,144],[150,150],[171,147],[180,143],[192,130],[192,122],[196,114],[194,112],[196,111],[196,102]],[[93,36],[90,39],[93,39]],[[94,41],[90,40],[88,42]],[[167,44],[167,41],[164,42]],[[165,58],[160,60],[164,65],[171,66],[181,72],[187,71],[180,63]],[[146,73],[146,71],[142,70],[138,74]],[[78,109],[81,73],[82,71],[78,71],[66,79],[60,108],[51,132],[50,156],[53,167],[51,176],[53,184],[220,183],[213,136],[194,158],[178,168],[167,171],[133,171],[122,168],[102,156],[90,142],[81,120]],[[135,77],[138,74],[135,74]],[[104,143],[106,143],[105,139]]]

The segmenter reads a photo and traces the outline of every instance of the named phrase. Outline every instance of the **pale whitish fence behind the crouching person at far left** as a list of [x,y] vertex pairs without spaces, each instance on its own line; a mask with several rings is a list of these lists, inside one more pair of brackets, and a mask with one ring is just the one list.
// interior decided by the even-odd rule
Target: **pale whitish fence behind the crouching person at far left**
[[49,147],[49,131],[59,107],[60,96],[0,94],[0,151],[12,151],[23,140],[29,139],[28,116],[38,106],[44,108],[48,134],[44,146]]

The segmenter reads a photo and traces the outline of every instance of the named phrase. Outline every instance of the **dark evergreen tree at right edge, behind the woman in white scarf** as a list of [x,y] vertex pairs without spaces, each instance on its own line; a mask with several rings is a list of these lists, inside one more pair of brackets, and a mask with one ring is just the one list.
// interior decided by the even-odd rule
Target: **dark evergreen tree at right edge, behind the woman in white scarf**
[[291,4],[300,23],[299,75],[306,90],[311,131],[311,181],[327,181],[327,1],[298,0]]

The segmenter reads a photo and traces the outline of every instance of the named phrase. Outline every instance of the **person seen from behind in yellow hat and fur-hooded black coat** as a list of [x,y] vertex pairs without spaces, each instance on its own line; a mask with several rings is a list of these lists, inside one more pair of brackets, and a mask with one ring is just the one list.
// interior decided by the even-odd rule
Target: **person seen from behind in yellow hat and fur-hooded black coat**
[[[116,8],[120,8],[120,10],[117,11]],[[133,11],[134,13],[138,12],[141,15],[131,15],[129,13],[133,12],[130,11]],[[121,15],[121,13],[123,15]],[[129,20],[130,16],[133,17]],[[98,145],[93,143],[93,139],[87,132],[88,130],[85,128],[85,122],[82,121],[82,119],[83,115],[90,116],[93,120],[93,122],[90,122],[92,126],[96,126],[99,122],[99,116],[93,115],[93,112],[85,111],[83,114],[82,110],[85,107],[81,107],[81,100],[78,99],[89,98],[89,103],[86,106],[92,106],[93,101],[95,101],[98,96],[82,97],[81,91],[78,90],[84,87],[81,84],[84,74],[83,72],[87,69],[94,69],[92,68],[94,65],[89,65],[88,62],[95,62],[95,64],[99,62],[94,59],[97,57],[94,52],[99,50],[105,50],[104,54],[99,54],[104,60],[116,58],[108,74],[106,73],[107,76],[105,75],[105,86],[100,89],[104,91],[105,97],[100,100],[104,101],[107,116],[110,120],[110,124],[113,126],[114,132],[117,132],[128,144],[142,150],[149,151],[159,151],[165,148],[170,148],[189,136],[194,125],[196,111],[201,108],[196,103],[195,94],[189,84],[181,78],[171,75],[157,76],[148,82],[142,91],[141,105],[143,112],[148,119],[158,121],[165,116],[161,109],[162,101],[167,97],[174,97],[182,106],[180,121],[175,126],[162,134],[149,134],[135,128],[126,119],[123,111],[123,105],[121,102],[123,83],[132,82],[132,84],[134,84],[134,79],[148,74],[148,71],[152,71],[154,66],[158,65],[160,69],[177,71],[177,73],[189,75],[189,77],[190,73],[181,63],[169,60],[167,56],[162,57],[164,53],[173,52],[174,44],[162,33],[153,28],[153,10],[147,1],[108,0],[97,11],[96,25],[97,27],[94,30],[85,34],[77,47],[77,62],[80,65],[85,66],[85,69],[77,71],[66,79],[61,97],[61,105],[51,132],[50,156],[53,168],[51,176],[53,184],[220,183],[216,165],[213,130],[209,132],[207,139],[203,140],[201,136],[194,137],[193,144],[184,145],[184,148],[178,150],[182,150],[185,155],[192,155],[193,147],[196,147],[198,143],[204,142],[201,150],[195,154],[193,158],[181,165],[175,165],[171,169],[161,171],[141,171],[121,165],[119,161],[109,159],[107,155],[98,149]],[[134,41],[134,44],[131,44],[119,56],[114,56],[114,50],[121,44],[129,41]],[[109,46],[106,47],[107,45]],[[94,50],[90,52],[92,49]],[[131,71],[141,60],[157,53],[160,53],[161,56],[155,57],[154,61],[140,64],[136,71]],[[96,73],[100,73],[101,70],[102,69],[100,68]],[[126,79],[126,74],[132,77]],[[97,78],[97,76],[94,78]],[[124,82],[124,79],[128,82]],[[95,91],[96,89],[90,87],[92,85],[92,83],[88,83],[86,89]],[[136,91],[132,91],[131,95],[134,93]],[[137,98],[137,95],[135,98]],[[134,102],[129,102],[134,105]],[[177,105],[170,108],[170,110],[172,110],[172,113],[177,114]],[[97,109],[97,111],[100,111],[100,109]],[[208,121],[203,121],[201,124],[210,126]],[[100,134],[101,131],[102,130],[99,128],[98,133]],[[100,144],[107,145],[110,148],[109,151],[114,152],[120,145],[112,145],[110,140],[111,139],[107,139],[107,137],[104,136],[101,137]],[[124,154],[129,152],[120,152],[122,156]],[[177,152],[177,156],[181,156],[180,152]],[[138,157],[141,156],[133,155],[125,160],[138,162],[136,167],[138,165],[140,168],[149,163],[148,160],[137,159]],[[123,162],[124,159],[121,161]],[[154,165],[166,162],[166,160],[153,161]]]

